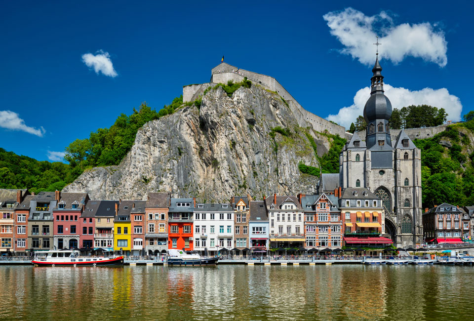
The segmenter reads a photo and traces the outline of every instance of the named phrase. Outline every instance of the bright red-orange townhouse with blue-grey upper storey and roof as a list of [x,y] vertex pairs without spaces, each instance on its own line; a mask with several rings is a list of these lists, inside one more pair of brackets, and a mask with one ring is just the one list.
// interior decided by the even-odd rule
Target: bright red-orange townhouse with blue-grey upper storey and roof
[[168,248],[192,251],[196,199],[171,199],[168,210]]

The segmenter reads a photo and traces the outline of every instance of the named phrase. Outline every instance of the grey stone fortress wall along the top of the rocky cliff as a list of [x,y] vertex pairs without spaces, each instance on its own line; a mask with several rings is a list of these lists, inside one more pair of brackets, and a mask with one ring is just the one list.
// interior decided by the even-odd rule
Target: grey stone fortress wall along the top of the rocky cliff
[[305,110],[297,101],[290,95],[290,93],[278,82],[275,78],[257,74],[248,70],[239,69],[227,63],[221,63],[211,70],[210,83],[194,84],[183,87],[183,101],[193,101],[204,92],[204,90],[216,83],[227,83],[229,80],[239,82],[247,77],[253,83],[259,84],[269,90],[275,91],[280,95],[290,107],[291,111],[298,120],[301,127],[313,127],[319,132],[328,131],[330,134],[338,134],[341,137],[346,137],[346,130],[343,126],[333,124],[332,122],[316,116],[313,113]]

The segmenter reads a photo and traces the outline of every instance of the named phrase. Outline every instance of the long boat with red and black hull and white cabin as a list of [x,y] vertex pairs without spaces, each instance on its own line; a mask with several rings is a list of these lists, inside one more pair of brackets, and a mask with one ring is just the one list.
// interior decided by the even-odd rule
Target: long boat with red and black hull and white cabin
[[38,252],[31,261],[36,266],[111,266],[123,265],[123,256],[80,256],[77,250]]

